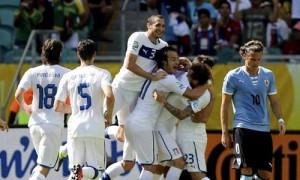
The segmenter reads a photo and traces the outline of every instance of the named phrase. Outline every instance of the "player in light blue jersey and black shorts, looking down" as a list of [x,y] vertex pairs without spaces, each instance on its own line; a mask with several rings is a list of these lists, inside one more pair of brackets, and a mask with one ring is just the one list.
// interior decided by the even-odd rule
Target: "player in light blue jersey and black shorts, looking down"
[[245,65],[229,71],[223,82],[220,114],[222,144],[230,148],[232,143],[228,127],[232,102],[234,166],[240,169],[241,180],[250,180],[254,174],[260,179],[271,177],[273,145],[267,99],[278,120],[280,134],[285,133],[274,74],[260,66],[263,49],[263,44],[256,40],[240,47]]

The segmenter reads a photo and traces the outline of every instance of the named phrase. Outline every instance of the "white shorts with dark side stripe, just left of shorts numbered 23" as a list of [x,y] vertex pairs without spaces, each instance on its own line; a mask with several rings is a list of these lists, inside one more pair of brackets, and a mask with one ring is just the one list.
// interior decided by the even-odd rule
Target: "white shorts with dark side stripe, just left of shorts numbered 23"
[[171,134],[165,131],[155,131],[155,137],[158,146],[157,159],[159,163],[172,161],[182,157],[181,150]]

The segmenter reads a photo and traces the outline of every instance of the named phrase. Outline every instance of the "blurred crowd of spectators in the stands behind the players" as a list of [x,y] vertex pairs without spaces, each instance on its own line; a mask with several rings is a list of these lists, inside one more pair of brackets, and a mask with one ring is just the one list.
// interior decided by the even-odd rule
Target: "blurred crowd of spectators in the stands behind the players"
[[[300,4],[296,0],[139,0],[140,11],[157,9],[166,20],[165,40],[179,55],[237,52],[250,39],[268,54],[300,54]],[[24,48],[31,30],[54,29],[66,48],[81,38],[112,42],[104,35],[112,0],[21,0],[15,12],[15,46]],[[119,3],[119,2],[118,2]],[[41,45],[43,39],[38,40]],[[40,46],[38,46],[40,47]],[[40,50],[39,50],[40,52]]]

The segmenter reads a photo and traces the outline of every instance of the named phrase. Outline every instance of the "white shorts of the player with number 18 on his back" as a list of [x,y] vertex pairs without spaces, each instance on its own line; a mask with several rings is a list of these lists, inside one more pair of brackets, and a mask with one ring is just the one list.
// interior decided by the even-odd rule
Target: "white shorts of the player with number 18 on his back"
[[53,168],[62,140],[62,128],[52,124],[39,124],[30,126],[29,131],[38,156],[37,164]]

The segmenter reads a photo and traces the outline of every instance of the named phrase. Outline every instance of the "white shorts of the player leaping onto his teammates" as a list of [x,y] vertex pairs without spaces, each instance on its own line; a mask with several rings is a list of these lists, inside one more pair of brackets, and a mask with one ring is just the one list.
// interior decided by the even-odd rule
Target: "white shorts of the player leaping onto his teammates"
[[113,87],[115,97],[113,115],[117,115],[119,123],[124,124],[125,119],[133,111],[137,98],[138,91],[129,91],[121,87]]

